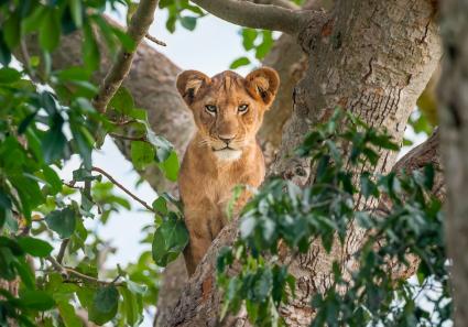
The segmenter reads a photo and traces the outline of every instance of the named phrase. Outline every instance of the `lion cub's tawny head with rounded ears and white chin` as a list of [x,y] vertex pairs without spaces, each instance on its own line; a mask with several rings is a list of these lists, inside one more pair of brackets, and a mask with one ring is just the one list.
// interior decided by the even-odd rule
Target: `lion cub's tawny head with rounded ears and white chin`
[[209,78],[197,70],[183,72],[177,89],[192,109],[200,145],[217,157],[237,160],[246,145],[255,142],[264,111],[273,102],[280,78],[263,67],[246,78],[227,70]]

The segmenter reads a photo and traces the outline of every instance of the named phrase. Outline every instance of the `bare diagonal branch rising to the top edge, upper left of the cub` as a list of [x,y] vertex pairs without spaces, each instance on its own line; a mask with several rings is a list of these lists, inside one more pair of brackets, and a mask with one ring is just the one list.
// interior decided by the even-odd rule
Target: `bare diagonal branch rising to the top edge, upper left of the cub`
[[99,87],[99,94],[96,96],[94,106],[99,112],[106,112],[107,105],[119,89],[123,79],[130,72],[133,62],[133,55],[138,45],[148,34],[151,23],[154,19],[159,0],[141,0],[137,12],[133,14],[127,34],[133,40],[134,48],[131,52],[121,48],[117,61],[110,67],[109,73]]

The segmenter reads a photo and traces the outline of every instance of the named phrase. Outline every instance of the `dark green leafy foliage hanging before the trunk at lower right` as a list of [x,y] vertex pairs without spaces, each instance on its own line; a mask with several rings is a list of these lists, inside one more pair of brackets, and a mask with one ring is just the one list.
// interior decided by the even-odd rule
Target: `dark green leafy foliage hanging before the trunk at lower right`
[[[330,252],[345,247],[358,228],[367,237],[351,253],[355,264],[335,261],[327,290],[311,298],[312,326],[440,326],[449,319],[440,204],[427,192],[434,170],[372,174],[378,149],[399,146],[342,111],[314,127],[297,149],[298,155],[312,159],[312,185],[266,183],[242,211],[239,239],[218,257],[222,315],[246,304],[251,323],[277,326],[279,307],[294,297],[295,287],[280,249],[289,249],[293,258],[312,247]],[[376,209],[381,198],[385,203]],[[417,285],[389,273],[392,262],[404,268],[407,255],[421,261]],[[431,314],[418,294],[434,285],[440,290],[426,298],[434,305]]]

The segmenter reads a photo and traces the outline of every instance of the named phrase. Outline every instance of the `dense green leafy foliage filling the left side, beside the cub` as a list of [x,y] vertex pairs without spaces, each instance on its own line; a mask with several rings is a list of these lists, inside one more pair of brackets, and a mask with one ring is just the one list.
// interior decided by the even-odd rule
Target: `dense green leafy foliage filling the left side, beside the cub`
[[[119,48],[135,47],[101,15],[122,3],[134,8],[117,0],[0,2],[0,279],[20,280],[18,294],[0,290],[1,326],[10,319],[21,326],[81,326],[76,308],[98,325],[138,326],[143,308],[155,304],[161,270],[151,252],[126,269],[104,269],[112,249],[89,227],[92,219],[107,224],[112,212],[131,208],[113,192],[116,181],[92,164],[107,135],[131,143],[137,170],[154,165],[171,181],[178,173],[173,145],[151,130],[126,88],[110,101],[108,116],[92,107],[98,91],[92,73],[101,56],[96,35],[111,58]],[[181,20],[195,26],[189,18]],[[53,69],[61,37],[77,30],[83,66]],[[72,156],[81,164],[68,176],[63,168]],[[172,259],[187,242],[181,217],[171,219],[160,206],[146,209],[161,225],[161,251]],[[153,233],[153,227],[146,229],[143,241],[151,243]]]

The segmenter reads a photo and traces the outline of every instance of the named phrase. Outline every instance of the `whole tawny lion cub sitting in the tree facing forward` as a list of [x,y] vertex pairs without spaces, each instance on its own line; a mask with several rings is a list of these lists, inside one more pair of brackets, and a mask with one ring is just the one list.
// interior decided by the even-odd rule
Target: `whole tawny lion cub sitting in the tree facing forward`
[[[229,70],[211,78],[186,70],[177,77],[177,89],[197,127],[178,177],[189,232],[184,251],[188,275],[227,224],[232,188],[239,184],[258,187],[263,182],[265,166],[255,134],[279,84],[276,72],[268,67],[246,78]],[[240,196],[237,211],[249,196],[248,192]]]

